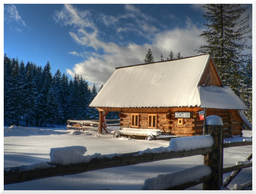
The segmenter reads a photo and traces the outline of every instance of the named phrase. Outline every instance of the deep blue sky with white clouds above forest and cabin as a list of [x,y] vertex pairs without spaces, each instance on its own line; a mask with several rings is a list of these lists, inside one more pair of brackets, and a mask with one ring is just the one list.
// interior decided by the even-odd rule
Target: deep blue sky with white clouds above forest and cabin
[[[243,6],[252,27],[252,4]],[[199,4],[4,4],[4,53],[25,64],[49,61],[53,75],[76,73],[99,88],[115,67],[143,63],[149,48],[155,61],[171,50],[197,55],[203,13]]]

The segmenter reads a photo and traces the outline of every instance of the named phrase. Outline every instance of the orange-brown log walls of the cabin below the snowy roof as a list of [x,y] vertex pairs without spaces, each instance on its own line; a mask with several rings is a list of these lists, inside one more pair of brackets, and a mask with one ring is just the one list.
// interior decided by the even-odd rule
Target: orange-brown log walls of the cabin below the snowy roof
[[[157,114],[157,129],[162,130],[171,135],[203,135],[203,120],[199,118],[199,111],[203,108],[171,108],[168,111],[156,109],[152,112],[121,112],[120,128],[131,128],[131,113],[139,113],[139,128],[148,128],[148,114]],[[175,118],[175,112],[190,112],[190,118],[183,118],[183,125],[178,125],[178,118]],[[242,135],[242,120],[237,110],[227,109],[207,109],[206,116],[217,115],[222,118],[223,122],[223,137],[231,135]],[[232,123],[236,121],[236,123]],[[235,120],[234,120],[235,119]]]

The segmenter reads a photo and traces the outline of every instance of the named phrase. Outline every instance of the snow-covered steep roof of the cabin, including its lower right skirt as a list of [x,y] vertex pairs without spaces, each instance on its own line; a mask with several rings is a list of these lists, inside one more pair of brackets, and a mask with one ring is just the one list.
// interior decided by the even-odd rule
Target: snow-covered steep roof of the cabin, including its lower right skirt
[[90,106],[247,109],[228,87],[199,86],[210,59],[204,54],[117,68]]

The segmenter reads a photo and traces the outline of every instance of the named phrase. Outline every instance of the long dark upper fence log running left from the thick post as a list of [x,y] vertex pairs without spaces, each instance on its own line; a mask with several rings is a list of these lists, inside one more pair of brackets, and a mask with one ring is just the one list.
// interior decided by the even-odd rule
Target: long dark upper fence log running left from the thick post
[[69,165],[54,165],[53,168],[48,169],[33,169],[22,171],[21,169],[29,169],[28,166],[19,166],[7,168],[4,170],[4,184],[12,184],[18,182],[26,182],[41,178],[64,176],[78,173],[85,173],[92,170],[107,169],[112,167],[129,166],[134,164],[141,164],[165,159],[183,158],[193,155],[208,154],[213,151],[213,147],[200,148],[190,151],[171,151],[169,153],[144,153],[143,155],[137,155],[139,152],[119,154],[113,158],[93,158],[89,162],[80,164]]

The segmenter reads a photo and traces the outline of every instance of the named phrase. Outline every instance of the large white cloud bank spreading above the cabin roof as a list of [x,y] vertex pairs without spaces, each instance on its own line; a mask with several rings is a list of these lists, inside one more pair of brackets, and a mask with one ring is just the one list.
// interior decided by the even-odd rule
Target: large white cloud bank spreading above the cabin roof
[[[147,22],[149,20],[148,17],[140,13],[138,8],[126,5],[125,10],[125,15],[118,16],[118,18],[104,17],[103,14],[99,15],[104,19],[105,24],[113,26],[117,32],[133,30],[138,34],[143,34],[144,31],[147,31],[148,34],[144,36],[152,37],[152,44],[137,45],[128,43],[125,46],[120,46],[114,42],[104,42],[99,38],[98,28],[90,19],[89,12],[80,12],[71,5],[65,6],[61,12],[57,12],[58,21],[63,22],[65,25],[74,25],[76,27],[75,30],[70,32],[75,42],[95,49],[95,52],[90,53],[70,52],[76,56],[84,56],[85,61],[75,64],[72,69],[67,69],[69,75],[73,76],[75,73],[82,75],[89,83],[95,83],[99,87],[101,83],[106,83],[115,71],[115,67],[143,63],[149,48],[151,48],[156,62],[160,61],[161,53],[166,59],[171,50],[174,55],[180,51],[183,57],[196,55],[197,53],[194,50],[204,44],[203,39],[198,36],[203,29],[197,28],[189,18],[187,18],[186,27],[183,29],[176,28],[160,31]],[[135,24],[125,28],[119,26],[118,20],[121,17],[134,18]],[[107,18],[110,18],[109,22],[107,22]],[[93,30],[88,30],[88,26]],[[103,54],[97,53],[98,49],[103,50]]]

